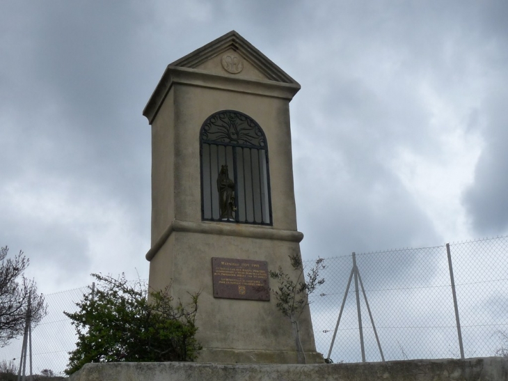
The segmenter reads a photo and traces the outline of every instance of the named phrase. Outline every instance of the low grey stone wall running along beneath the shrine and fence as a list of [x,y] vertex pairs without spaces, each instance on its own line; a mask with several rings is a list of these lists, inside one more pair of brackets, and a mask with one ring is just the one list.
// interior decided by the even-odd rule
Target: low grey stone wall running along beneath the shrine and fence
[[68,381],[508,381],[508,359],[408,360],[315,365],[87,364]]

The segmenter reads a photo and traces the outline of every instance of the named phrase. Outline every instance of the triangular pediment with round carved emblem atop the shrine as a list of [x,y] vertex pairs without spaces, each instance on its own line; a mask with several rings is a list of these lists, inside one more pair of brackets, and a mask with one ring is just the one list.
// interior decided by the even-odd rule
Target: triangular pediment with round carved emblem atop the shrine
[[209,42],[194,52],[170,63],[170,67],[191,68],[218,75],[264,79],[296,84],[284,70],[262,54],[236,31]]

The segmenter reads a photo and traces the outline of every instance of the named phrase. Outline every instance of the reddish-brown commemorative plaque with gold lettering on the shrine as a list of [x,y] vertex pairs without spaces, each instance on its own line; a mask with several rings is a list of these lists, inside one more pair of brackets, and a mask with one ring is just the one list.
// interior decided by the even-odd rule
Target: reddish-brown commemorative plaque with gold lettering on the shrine
[[214,297],[270,300],[267,261],[214,257],[212,277]]

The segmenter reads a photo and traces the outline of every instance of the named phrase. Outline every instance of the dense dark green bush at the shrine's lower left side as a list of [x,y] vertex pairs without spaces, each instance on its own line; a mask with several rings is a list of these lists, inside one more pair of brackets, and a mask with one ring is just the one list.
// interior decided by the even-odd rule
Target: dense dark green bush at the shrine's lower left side
[[65,312],[76,328],[76,349],[65,373],[89,362],[193,361],[200,345],[194,324],[199,293],[184,306],[168,288],[150,292],[140,281],[92,274],[95,292],[84,295],[79,311]]

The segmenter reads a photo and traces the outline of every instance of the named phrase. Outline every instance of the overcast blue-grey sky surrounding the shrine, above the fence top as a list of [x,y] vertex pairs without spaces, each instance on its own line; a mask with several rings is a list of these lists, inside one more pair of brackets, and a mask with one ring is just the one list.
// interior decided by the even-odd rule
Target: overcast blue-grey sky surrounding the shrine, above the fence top
[[148,277],[168,63],[235,29],[291,103],[304,258],[508,233],[508,2],[2,1],[0,244],[43,293]]

